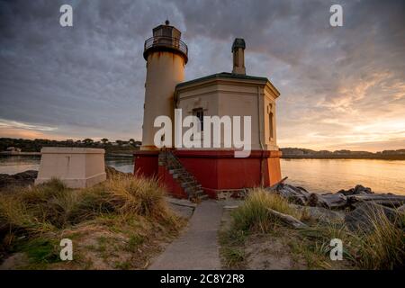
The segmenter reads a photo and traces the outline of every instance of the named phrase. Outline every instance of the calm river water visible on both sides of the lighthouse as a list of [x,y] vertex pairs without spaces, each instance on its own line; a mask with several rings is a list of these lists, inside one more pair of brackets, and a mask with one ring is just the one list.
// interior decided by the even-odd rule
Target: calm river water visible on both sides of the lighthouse
[[[40,157],[0,157],[0,174],[38,170]],[[106,165],[122,172],[133,172],[131,157],[107,157]],[[405,195],[405,161],[372,159],[281,159],[287,183],[300,185],[310,192],[337,192],[356,184],[375,193]]]

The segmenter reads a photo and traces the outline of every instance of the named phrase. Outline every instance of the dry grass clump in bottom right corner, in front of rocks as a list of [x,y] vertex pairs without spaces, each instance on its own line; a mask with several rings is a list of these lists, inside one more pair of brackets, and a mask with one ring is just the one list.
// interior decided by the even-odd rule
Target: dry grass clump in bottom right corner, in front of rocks
[[301,231],[301,251],[319,257],[329,257],[332,238],[343,242],[344,258],[359,269],[403,269],[405,265],[405,232],[403,213],[396,220],[389,220],[383,210],[367,214],[367,229],[347,229],[345,223],[316,225]]

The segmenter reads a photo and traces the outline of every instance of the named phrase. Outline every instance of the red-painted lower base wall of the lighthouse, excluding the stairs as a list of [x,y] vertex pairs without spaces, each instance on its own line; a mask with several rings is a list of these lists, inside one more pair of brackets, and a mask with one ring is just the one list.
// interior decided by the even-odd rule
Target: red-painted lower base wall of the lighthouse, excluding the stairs
[[[184,168],[202,184],[211,198],[221,192],[231,192],[257,186],[270,186],[281,180],[281,151],[254,150],[249,157],[237,158],[233,150],[172,150]],[[158,166],[159,151],[134,153],[134,172],[157,176],[170,193],[187,197],[166,166]]]

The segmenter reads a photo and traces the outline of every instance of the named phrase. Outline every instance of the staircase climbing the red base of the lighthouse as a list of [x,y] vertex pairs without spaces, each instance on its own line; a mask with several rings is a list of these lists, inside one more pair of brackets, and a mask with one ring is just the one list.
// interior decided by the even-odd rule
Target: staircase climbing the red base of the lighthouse
[[187,193],[189,200],[198,202],[208,198],[208,195],[202,190],[202,185],[184,168],[171,151],[163,150],[159,153],[159,166],[166,166],[175,182]]

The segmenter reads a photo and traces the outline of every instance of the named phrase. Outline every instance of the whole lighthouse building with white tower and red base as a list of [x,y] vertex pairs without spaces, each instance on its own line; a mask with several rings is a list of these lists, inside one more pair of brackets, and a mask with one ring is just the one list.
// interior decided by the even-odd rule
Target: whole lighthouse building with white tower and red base
[[[188,49],[181,32],[168,22],[153,29],[143,53],[147,76],[142,146],[134,153],[136,175],[155,176],[169,193],[189,199],[238,196],[248,188],[266,187],[281,180],[282,153],[276,141],[276,99],[280,92],[266,76],[247,75],[247,46],[242,38],[229,45],[231,72],[184,81]],[[179,113],[198,123],[198,137],[193,139],[202,142],[203,147],[178,147],[174,137],[164,146],[157,145],[157,117],[164,116],[176,128]],[[242,136],[227,119],[248,119],[243,124],[243,137],[249,143],[247,156],[236,157],[240,142],[225,137],[229,131],[232,137]],[[184,122],[180,128],[189,129]],[[178,130],[174,130],[177,135]],[[212,138],[214,133],[216,139]]]

